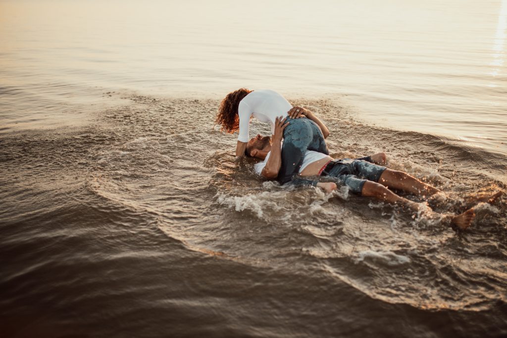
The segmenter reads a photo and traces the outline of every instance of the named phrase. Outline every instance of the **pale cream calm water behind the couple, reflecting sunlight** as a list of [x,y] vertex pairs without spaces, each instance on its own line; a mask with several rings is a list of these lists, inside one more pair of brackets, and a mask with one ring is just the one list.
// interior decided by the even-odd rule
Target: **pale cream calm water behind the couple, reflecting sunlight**
[[273,88],[505,155],[506,8],[505,0],[4,1],[2,124],[43,119],[48,105],[68,115],[59,106],[95,87],[213,98]]

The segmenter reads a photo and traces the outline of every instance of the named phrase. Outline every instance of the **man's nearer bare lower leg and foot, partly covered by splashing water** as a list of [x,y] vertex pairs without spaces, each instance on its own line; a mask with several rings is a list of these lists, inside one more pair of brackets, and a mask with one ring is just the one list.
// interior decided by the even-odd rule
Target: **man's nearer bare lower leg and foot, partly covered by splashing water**
[[[361,191],[362,196],[374,197],[381,201],[390,203],[390,204],[398,204],[409,207],[413,211],[419,211],[420,205],[413,201],[407,200],[401,196],[394,194],[392,191],[387,189],[382,184],[366,181],[365,185],[363,185],[363,190]],[[459,215],[444,215],[446,218],[449,218],[453,224],[456,224],[460,229],[464,230],[472,224],[472,221],[475,217],[475,212],[473,208],[468,209]]]

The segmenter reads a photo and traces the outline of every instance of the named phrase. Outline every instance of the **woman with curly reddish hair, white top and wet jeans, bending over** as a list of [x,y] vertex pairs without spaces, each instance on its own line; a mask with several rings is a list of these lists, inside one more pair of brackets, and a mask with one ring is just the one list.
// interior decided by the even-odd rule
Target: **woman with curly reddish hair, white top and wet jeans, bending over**
[[[293,107],[283,96],[272,90],[252,91],[241,88],[227,94],[222,100],[215,120],[216,124],[222,126],[222,130],[229,133],[238,131],[236,157],[242,157],[245,153],[252,116],[261,122],[270,123],[271,133],[274,132],[275,119],[288,116],[288,125],[283,131],[282,166],[278,175],[281,184],[291,180],[299,171],[306,150],[329,155],[324,140],[324,134],[327,137],[329,130],[311,111]],[[307,118],[300,119],[301,116]]]

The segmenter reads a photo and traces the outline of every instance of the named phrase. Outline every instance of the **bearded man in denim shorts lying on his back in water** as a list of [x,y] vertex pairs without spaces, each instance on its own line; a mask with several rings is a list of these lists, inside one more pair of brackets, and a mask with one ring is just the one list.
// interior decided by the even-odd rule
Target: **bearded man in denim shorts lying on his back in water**
[[[301,112],[301,114],[297,114],[296,118],[308,114],[307,109],[294,107],[289,110],[289,117],[294,116],[294,111],[297,109],[299,109],[298,113]],[[276,119],[273,137],[257,135],[251,138],[246,145],[247,155],[262,160],[262,162],[255,165],[255,170],[265,178],[276,178],[282,165],[280,148],[283,130],[286,126],[285,120]],[[373,197],[391,204],[401,204],[413,211],[418,211],[421,205],[394,194],[388,188],[419,196],[431,196],[441,192],[436,187],[426,184],[405,172],[391,170],[365,160],[383,163],[385,155],[381,153],[357,160],[335,160],[326,154],[306,151],[302,165],[298,168],[300,176],[320,176],[331,182],[315,182],[298,178],[295,181],[318,186],[328,192],[336,190],[336,183],[339,183],[348,186],[350,191],[361,196]],[[477,200],[477,202],[493,203],[500,196],[501,192],[497,192],[483,200]],[[458,228],[466,229],[472,223],[475,213],[474,209],[470,208],[459,215],[444,216],[449,218]]]

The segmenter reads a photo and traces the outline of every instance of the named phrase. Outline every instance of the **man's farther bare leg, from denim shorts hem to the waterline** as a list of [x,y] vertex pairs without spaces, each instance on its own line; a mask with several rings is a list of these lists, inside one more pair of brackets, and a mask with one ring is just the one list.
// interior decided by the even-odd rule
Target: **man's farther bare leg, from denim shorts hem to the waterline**
[[413,195],[431,196],[441,192],[436,187],[421,182],[406,172],[391,169],[384,170],[379,183],[388,188],[402,190]]

